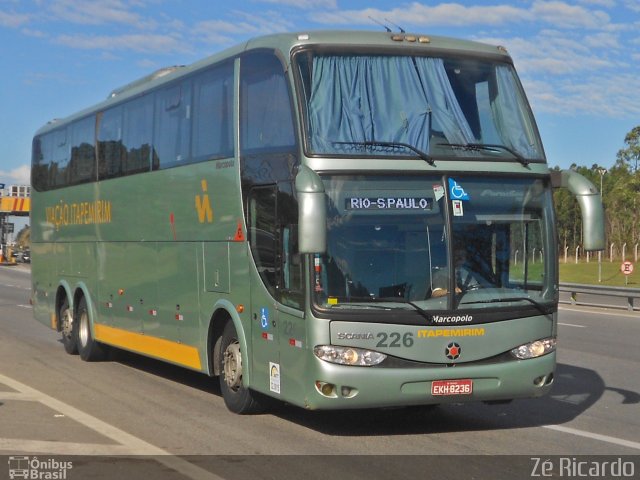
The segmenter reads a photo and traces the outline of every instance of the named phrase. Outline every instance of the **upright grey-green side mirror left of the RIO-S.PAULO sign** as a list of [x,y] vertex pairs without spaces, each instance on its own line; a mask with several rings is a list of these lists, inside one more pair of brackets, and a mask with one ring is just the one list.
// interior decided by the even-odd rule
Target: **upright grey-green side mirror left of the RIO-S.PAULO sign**
[[298,246],[300,253],[324,253],[327,249],[327,206],[322,180],[301,165],[296,176],[298,194]]

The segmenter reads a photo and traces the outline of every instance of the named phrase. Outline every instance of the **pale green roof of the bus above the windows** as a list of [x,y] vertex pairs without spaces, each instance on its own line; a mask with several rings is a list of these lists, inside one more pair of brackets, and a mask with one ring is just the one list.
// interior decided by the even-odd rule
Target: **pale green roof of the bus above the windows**
[[325,46],[329,48],[349,46],[354,50],[373,48],[406,51],[407,49],[415,49],[414,51],[432,51],[434,53],[446,51],[472,55],[499,56],[505,61],[511,61],[507,50],[502,46],[443,36],[364,30],[309,30],[305,32],[264,35],[222,50],[188,66],[181,65],[161,68],[156,72],[112,90],[103,102],[74,113],[66,118],[56,118],[47,122],[46,125],[36,132],[36,135],[55,130],[67,122],[105,110],[126,99],[141,95],[155,87],[170,83],[175,79],[207,68],[225,59],[233,58],[248,50],[264,48],[277,49],[283,53],[290,53],[294,49],[304,46]]

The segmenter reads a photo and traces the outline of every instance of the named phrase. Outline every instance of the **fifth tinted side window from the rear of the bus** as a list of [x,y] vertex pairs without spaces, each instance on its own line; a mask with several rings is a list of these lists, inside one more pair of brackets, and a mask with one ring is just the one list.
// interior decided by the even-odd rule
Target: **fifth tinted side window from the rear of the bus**
[[153,97],[146,95],[125,104],[122,135],[125,150],[122,162],[124,175],[150,169],[152,135]]

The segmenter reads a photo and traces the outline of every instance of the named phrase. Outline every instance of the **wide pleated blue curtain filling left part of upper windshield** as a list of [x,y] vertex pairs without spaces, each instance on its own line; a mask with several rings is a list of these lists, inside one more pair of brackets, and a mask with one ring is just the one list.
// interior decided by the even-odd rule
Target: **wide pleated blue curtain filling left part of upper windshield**
[[315,57],[309,101],[312,149],[361,153],[362,147],[338,142],[380,141],[428,151],[429,104],[411,57]]

